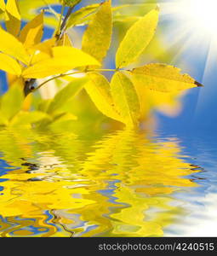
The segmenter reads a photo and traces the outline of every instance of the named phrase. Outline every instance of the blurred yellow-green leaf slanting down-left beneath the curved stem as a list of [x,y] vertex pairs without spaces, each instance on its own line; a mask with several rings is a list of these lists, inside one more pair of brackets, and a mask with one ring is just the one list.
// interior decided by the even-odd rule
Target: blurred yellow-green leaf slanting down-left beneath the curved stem
[[71,83],[67,84],[65,88],[60,90],[55,96],[52,102],[49,104],[47,113],[54,113],[60,109],[66,102],[68,102],[73,96],[76,96],[79,90],[81,90],[88,82],[88,78],[75,79]]

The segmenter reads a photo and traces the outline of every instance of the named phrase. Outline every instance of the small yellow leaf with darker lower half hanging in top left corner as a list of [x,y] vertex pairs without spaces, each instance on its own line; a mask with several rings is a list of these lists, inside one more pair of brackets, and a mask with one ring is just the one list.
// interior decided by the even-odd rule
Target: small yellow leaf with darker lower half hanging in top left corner
[[8,0],[5,15],[5,24],[8,32],[17,36],[20,32],[21,24],[20,9],[17,0]]

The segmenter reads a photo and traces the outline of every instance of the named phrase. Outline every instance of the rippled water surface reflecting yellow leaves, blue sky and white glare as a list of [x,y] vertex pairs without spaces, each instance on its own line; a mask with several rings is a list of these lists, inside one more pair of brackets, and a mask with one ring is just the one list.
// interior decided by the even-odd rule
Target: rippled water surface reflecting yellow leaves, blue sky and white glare
[[0,236],[215,236],[216,152],[212,138],[1,130]]

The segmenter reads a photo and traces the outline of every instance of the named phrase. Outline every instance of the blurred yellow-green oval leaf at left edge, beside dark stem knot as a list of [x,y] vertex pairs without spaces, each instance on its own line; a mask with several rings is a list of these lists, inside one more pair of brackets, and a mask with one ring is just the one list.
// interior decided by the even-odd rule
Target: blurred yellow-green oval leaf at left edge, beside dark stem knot
[[5,119],[12,119],[22,107],[24,101],[23,91],[20,87],[13,85],[1,99],[0,111]]

